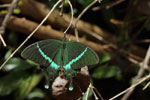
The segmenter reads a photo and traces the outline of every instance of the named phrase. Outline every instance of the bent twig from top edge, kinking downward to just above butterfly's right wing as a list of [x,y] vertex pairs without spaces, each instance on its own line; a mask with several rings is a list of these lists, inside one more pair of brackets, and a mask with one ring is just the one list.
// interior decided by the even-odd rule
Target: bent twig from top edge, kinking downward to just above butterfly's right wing
[[74,22],[73,26],[74,26],[74,31],[75,31],[75,36],[77,38],[77,41],[79,41],[79,35],[78,35],[78,30],[77,30],[77,22],[79,21],[79,19],[83,16],[83,14],[90,8],[92,7],[96,2],[101,2],[102,0],[94,0],[92,3],[90,3],[81,13],[80,15],[77,17],[76,21]]

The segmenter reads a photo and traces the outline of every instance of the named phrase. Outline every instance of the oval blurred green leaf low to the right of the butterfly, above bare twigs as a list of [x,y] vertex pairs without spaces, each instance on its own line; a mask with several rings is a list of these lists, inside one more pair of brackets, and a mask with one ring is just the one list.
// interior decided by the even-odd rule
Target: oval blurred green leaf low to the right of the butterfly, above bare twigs
[[116,66],[102,66],[94,70],[92,77],[96,79],[111,78],[120,74],[120,68]]

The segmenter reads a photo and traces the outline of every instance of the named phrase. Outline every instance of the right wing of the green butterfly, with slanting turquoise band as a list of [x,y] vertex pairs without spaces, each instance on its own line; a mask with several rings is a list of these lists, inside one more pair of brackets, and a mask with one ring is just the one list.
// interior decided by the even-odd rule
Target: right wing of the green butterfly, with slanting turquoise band
[[64,66],[70,64],[73,69],[99,62],[97,54],[90,47],[75,41],[66,43],[64,58]]

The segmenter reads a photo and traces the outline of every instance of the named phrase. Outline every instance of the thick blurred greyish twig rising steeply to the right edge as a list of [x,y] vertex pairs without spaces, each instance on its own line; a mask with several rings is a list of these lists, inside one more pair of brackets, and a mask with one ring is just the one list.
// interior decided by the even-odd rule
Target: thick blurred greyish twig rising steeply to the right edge
[[[145,69],[148,69],[148,61],[150,59],[150,46],[147,50],[147,53],[146,53],[146,56],[145,56],[145,59],[144,61],[141,63],[141,66],[140,66],[140,70],[137,74],[137,76],[135,77],[135,81],[133,82],[133,84],[135,84],[137,82],[138,79],[140,79],[143,74],[144,74],[144,71]],[[129,98],[129,96],[132,94],[132,92],[134,91],[135,88],[132,88],[130,91],[128,91],[123,97],[121,100],[127,100]]]

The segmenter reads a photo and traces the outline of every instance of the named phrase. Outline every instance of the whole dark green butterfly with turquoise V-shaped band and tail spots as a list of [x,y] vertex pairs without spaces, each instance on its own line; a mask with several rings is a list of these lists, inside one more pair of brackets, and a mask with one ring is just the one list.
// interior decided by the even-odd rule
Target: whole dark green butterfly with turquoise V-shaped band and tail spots
[[[88,46],[80,42],[53,39],[33,43],[21,55],[45,66],[50,80],[63,73],[63,77],[70,80],[70,91],[73,90],[72,77],[76,75],[76,69],[99,62],[97,54]],[[49,85],[45,88],[49,88]]]

